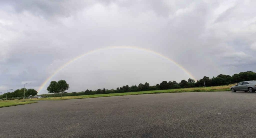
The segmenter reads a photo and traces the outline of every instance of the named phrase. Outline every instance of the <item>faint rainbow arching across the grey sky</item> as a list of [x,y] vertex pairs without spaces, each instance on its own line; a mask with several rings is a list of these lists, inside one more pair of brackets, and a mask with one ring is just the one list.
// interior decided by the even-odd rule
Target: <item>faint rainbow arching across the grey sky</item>
[[133,47],[133,46],[112,46],[112,47],[105,47],[105,48],[99,48],[99,49],[95,49],[95,50],[92,50],[92,51],[89,51],[89,52],[86,52],[84,54],[81,54],[80,56],[70,60],[69,62],[67,62],[66,64],[62,65],[58,70],[56,70],[51,76],[49,76],[45,81],[44,83],[39,87],[39,89],[37,90],[38,93],[45,87],[45,85],[52,79],[52,77],[54,77],[58,72],[60,72],[64,67],[66,67],[67,65],[71,64],[72,62],[90,54],[90,53],[94,53],[94,52],[98,52],[98,51],[101,51],[101,50],[106,50],[106,49],[115,49],[115,48],[128,48],[128,49],[135,49],[135,50],[142,50],[142,51],[146,51],[146,52],[149,52],[149,53],[153,53],[157,56],[160,56],[160,57],[163,57],[167,60],[169,60],[170,62],[174,63],[175,65],[177,65],[179,68],[181,68],[184,72],[186,72],[192,79],[194,80],[197,80],[191,73],[189,73],[183,66],[179,65],[177,62],[175,62],[174,60],[164,56],[163,54],[160,54],[158,52],[155,52],[155,51],[152,51],[152,50],[149,50],[149,49],[146,49],[146,48],[139,48],[139,47]]

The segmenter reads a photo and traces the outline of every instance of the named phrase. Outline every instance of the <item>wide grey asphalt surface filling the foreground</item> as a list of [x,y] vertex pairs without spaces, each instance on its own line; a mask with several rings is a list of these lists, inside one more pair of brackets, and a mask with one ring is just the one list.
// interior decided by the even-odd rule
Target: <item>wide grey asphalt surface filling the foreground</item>
[[145,94],[4,107],[0,137],[256,137],[256,93]]

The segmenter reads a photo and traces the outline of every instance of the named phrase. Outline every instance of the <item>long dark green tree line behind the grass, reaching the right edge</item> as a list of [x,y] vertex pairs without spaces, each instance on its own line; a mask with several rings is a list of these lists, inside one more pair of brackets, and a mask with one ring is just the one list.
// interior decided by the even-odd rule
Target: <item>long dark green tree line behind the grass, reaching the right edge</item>
[[[195,82],[194,79],[189,78],[188,80],[182,80],[179,83],[176,81],[162,81],[159,84],[150,86],[148,82],[145,84],[139,84],[137,85],[124,85],[122,87],[118,87],[116,89],[106,90],[98,89],[98,90],[86,90],[81,92],[62,92],[63,96],[78,96],[78,95],[92,95],[92,94],[108,94],[108,93],[124,93],[124,92],[136,92],[136,91],[151,91],[151,90],[167,90],[167,89],[179,89],[179,88],[195,88],[195,87],[211,87],[211,86],[222,86],[222,85],[229,85],[229,84],[235,84],[241,81],[247,81],[247,80],[256,80],[256,73],[252,71],[247,72],[240,72],[239,74],[234,74],[232,76],[230,75],[224,75],[220,74],[217,77],[207,77],[204,76],[202,79],[197,80]],[[56,84],[55,82],[51,82],[53,84]],[[51,85],[51,84],[50,84]],[[50,87],[50,86],[49,86]],[[49,90],[48,90],[49,91]],[[49,93],[53,93],[50,91]],[[53,97],[53,96],[61,96],[60,94],[41,94],[41,96],[44,97]]]

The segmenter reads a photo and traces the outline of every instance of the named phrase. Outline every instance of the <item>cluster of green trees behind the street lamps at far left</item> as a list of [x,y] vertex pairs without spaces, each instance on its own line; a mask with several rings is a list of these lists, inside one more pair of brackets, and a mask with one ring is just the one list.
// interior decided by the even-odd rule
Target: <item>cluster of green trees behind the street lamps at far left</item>
[[[29,96],[35,96],[37,95],[37,91],[35,89],[26,89],[25,88],[25,98]],[[14,100],[14,99],[23,99],[24,96],[24,88],[17,89],[13,92],[8,92],[0,95],[0,99],[5,99],[5,100]],[[7,97],[7,99],[6,99]]]

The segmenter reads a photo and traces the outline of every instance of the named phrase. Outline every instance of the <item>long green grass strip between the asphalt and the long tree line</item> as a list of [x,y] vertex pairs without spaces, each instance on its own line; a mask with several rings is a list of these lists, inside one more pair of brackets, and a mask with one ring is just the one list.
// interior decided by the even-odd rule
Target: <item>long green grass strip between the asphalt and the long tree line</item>
[[49,97],[40,99],[27,99],[26,101],[34,100],[67,100],[67,99],[82,99],[82,98],[96,98],[96,97],[108,97],[108,96],[122,96],[122,95],[137,95],[137,94],[154,94],[154,93],[177,93],[177,92],[210,92],[210,91],[230,91],[228,86],[216,86],[216,87],[201,87],[201,88],[184,88],[184,89],[170,89],[170,90],[155,90],[155,91],[141,91],[141,92],[126,92],[126,93],[109,93],[109,94],[95,94],[95,95],[80,95],[80,96],[63,96],[61,97]]

